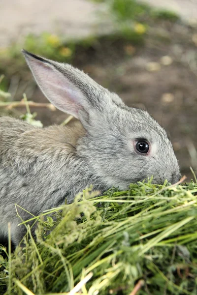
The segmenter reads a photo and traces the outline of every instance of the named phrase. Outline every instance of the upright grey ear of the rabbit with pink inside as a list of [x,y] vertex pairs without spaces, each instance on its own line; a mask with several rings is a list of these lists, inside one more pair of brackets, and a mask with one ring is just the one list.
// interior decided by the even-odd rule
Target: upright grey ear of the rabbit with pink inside
[[97,112],[103,109],[101,98],[107,90],[88,75],[69,64],[22,52],[39,88],[59,110],[81,119],[81,111],[90,115],[95,109]]

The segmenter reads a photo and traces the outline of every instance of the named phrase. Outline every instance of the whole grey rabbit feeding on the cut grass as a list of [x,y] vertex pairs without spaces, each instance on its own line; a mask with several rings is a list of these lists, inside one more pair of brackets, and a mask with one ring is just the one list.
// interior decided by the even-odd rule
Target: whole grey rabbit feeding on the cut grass
[[[103,193],[151,176],[156,184],[180,179],[171,142],[147,111],[126,106],[69,64],[22,52],[48,100],[78,120],[40,128],[0,118],[0,240],[8,236],[8,222],[14,245],[26,233],[15,204],[37,216],[66,199],[72,203],[91,184]],[[17,211],[23,220],[32,217]]]

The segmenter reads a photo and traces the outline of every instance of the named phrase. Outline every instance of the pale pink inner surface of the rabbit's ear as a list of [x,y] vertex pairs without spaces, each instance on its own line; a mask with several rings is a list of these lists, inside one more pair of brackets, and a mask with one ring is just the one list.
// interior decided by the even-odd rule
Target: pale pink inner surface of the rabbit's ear
[[78,118],[84,94],[50,63],[30,58],[33,76],[48,100],[59,110]]

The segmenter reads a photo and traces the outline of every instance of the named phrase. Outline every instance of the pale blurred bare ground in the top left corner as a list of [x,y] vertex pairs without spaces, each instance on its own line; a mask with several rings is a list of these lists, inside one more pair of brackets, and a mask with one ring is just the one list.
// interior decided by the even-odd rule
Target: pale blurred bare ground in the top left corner
[[0,48],[29,33],[47,31],[69,39],[97,33],[100,7],[89,0],[0,0]]

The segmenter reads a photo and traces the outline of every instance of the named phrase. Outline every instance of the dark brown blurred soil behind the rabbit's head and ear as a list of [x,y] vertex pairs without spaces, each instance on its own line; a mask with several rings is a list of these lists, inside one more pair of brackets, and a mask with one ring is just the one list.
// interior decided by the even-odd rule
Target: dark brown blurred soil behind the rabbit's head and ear
[[[88,48],[78,46],[72,64],[117,92],[129,106],[148,110],[167,130],[181,172],[189,181],[193,177],[190,166],[197,174],[197,28],[168,21],[150,25],[144,44],[117,36],[101,37]],[[162,59],[164,56],[168,58]],[[19,100],[25,91],[29,99],[47,102],[35,87],[30,71],[25,68],[24,73],[20,82],[23,87],[17,89],[14,99]],[[17,75],[21,79],[21,73],[14,77]],[[44,125],[66,118],[58,110],[32,111],[38,113],[37,119]]]

